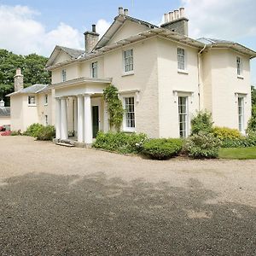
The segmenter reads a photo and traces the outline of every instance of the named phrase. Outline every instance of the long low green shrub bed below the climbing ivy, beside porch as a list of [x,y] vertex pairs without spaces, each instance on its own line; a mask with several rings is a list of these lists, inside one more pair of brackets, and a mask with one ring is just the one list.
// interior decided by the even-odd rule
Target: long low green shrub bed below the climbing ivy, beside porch
[[123,154],[139,153],[142,150],[143,143],[148,137],[143,134],[127,134],[125,132],[108,132],[99,131],[96,136],[96,142],[93,148],[102,148],[109,151]]

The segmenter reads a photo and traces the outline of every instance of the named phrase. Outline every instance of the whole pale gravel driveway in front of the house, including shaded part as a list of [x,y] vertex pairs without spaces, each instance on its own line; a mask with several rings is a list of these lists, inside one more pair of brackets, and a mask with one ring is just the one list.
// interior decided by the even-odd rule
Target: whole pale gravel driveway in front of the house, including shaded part
[[0,255],[256,255],[256,161],[0,137]]

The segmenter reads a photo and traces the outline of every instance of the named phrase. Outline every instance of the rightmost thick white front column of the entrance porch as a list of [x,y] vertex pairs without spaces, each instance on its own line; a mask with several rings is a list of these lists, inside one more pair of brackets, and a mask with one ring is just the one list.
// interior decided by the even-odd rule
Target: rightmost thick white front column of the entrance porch
[[84,143],[92,144],[92,118],[90,95],[84,96]]

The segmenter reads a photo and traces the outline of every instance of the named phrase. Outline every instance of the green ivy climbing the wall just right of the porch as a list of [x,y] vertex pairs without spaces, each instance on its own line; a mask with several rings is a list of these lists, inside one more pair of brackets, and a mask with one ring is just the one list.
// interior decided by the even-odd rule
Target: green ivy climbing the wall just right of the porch
[[123,122],[125,109],[119,99],[118,89],[113,84],[108,85],[103,92],[103,97],[105,102],[108,104],[110,129],[115,128],[119,131]]

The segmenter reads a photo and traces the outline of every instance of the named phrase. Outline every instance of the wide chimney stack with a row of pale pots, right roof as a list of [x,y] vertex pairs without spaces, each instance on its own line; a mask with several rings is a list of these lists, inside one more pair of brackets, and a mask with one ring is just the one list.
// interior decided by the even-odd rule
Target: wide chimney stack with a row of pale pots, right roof
[[185,9],[181,7],[174,12],[169,12],[168,19],[165,15],[165,23],[161,27],[177,32],[183,36],[189,34],[189,20],[185,17]]

